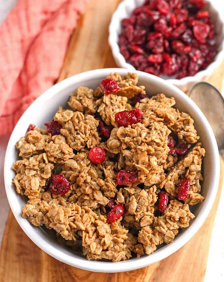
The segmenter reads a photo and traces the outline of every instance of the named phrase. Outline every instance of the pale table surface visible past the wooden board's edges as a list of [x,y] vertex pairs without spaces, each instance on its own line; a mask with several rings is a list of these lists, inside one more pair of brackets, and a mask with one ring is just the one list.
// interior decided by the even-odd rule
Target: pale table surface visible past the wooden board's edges
[[[212,0],[212,1],[216,5],[219,5],[219,9],[222,9],[224,14],[223,1],[222,0]],[[15,3],[16,0],[0,0],[0,22],[2,22],[5,19],[8,12],[10,11],[10,9],[12,9]],[[0,164],[1,164],[0,166],[0,207],[1,207],[0,243],[2,241],[2,235],[4,233],[5,223],[9,213],[9,204],[5,194],[5,186],[3,179],[3,168],[4,168],[3,164],[4,164],[5,150],[8,140],[9,140],[9,135],[0,137]],[[220,198],[220,203],[213,226],[210,250],[208,256],[208,265],[207,265],[204,282],[213,282],[213,281],[224,282],[224,235],[223,235],[224,204],[223,203],[224,203],[224,189],[222,189],[222,195]]]

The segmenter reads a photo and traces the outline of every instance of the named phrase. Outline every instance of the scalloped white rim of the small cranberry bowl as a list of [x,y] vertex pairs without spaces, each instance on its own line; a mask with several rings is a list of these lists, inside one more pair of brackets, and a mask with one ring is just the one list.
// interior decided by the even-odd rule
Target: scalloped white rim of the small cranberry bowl
[[[218,14],[218,20],[219,22],[222,23],[222,29],[220,31],[220,34],[223,34],[223,40],[222,42],[220,42],[220,51],[216,54],[215,60],[208,65],[207,68],[205,68],[204,70],[201,70],[199,72],[197,72],[195,75],[193,76],[186,76],[182,79],[165,79],[166,81],[174,84],[177,87],[181,87],[183,85],[187,85],[190,83],[194,83],[196,81],[200,81],[201,79],[203,79],[205,76],[208,76],[208,74],[213,73],[213,71],[219,67],[219,65],[222,63],[222,60],[224,58],[224,17],[221,13],[222,9],[217,9],[216,5],[214,4],[214,2],[212,2],[211,0],[206,0],[207,2],[209,2],[209,4],[211,5],[211,9],[215,10]],[[117,32],[114,28],[114,24],[115,22],[117,22],[117,16],[120,15],[120,13],[122,13],[121,11],[125,9],[126,6],[130,6],[135,0],[124,0],[122,1],[118,6],[117,9],[115,10],[110,24],[109,24],[109,36],[108,36],[108,43],[110,45],[110,49],[111,52],[113,54],[113,57],[115,58],[116,62],[118,63],[118,65],[121,68],[129,68],[131,70],[136,70],[134,66],[132,66],[132,64],[129,64],[128,62],[126,62],[124,56],[121,54],[120,52],[120,48],[118,46],[118,42],[116,42],[116,40],[114,40],[114,38],[117,35]],[[135,5],[136,6],[136,5]],[[137,7],[137,6],[136,6]]]

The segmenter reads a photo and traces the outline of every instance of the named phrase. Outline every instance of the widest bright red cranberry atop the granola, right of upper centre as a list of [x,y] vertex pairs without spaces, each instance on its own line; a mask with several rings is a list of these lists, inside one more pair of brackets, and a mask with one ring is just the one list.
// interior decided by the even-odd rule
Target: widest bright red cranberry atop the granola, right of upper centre
[[121,126],[128,126],[139,123],[143,119],[143,114],[139,109],[122,111],[115,114],[115,121]]

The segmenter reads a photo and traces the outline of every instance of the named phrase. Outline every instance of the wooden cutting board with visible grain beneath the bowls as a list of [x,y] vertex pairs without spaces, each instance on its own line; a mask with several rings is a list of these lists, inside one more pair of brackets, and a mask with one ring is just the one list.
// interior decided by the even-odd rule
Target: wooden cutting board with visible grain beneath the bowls
[[[70,39],[59,81],[96,68],[116,67],[107,43],[108,24],[119,0],[91,0]],[[53,58],[52,58],[53,60]],[[209,79],[222,86],[224,64]],[[212,225],[222,189],[224,163],[220,159],[219,190],[201,229],[179,251],[143,269],[124,273],[93,273],[68,266],[39,249],[22,231],[10,211],[0,254],[0,282],[203,282]]]

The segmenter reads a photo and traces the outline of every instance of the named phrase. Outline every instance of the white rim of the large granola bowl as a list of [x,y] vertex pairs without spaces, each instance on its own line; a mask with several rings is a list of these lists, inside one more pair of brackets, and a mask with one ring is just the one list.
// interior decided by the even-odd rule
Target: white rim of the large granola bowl
[[[215,136],[213,134],[213,131],[211,129],[211,126],[209,125],[207,119],[205,118],[204,114],[201,112],[201,110],[197,107],[197,105],[181,90],[179,90],[176,86],[172,85],[171,83],[168,83],[167,81],[156,77],[154,75],[147,74],[142,71],[136,71],[136,73],[141,77],[141,79],[151,80],[154,81],[157,84],[165,84],[166,88],[170,91],[175,92],[175,95],[179,96],[179,98],[183,101],[183,103],[186,105],[186,108],[191,108],[196,112],[196,115],[199,116],[201,122],[203,123],[203,127],[205,130],[208,130],[208,136],[209,136],[209,143],[211,146],[211,163],[213,162],[213,166],[211,165],[211,175],[212,175],[212,185],[208,190],[209,197],[207,196],[204,205],[202,206],[201,210],[199,211],[198,215],[196,216],[195,220],[192,222],[192,224],[185,229],[185,231],[173,242],[172,244],[167,244],[164,248],[161,250],[158,250],[156,253],[138,258],[138,259],[132,259],[122,262],[99,262],[99,261],[88,261],[86,260],[85,263],[83,263],[83,259],[75,258],[74,256],[68,255],[67,253],[64,253],[63,251],[60,251],[53,247],[49,242],[42,239],[42,237],[37,233],[34,232],[33,226],[29,225],[27,229],[27,220],[22,218],[21,216],[21,210],[18,210],[16,208],[16,205],[14,205],[13,196],[11,196],[9,183],[9,177],[8,174],[10,173],[9,170],[6,168],[11,167],[11,160],[14,159],[12,152],[15,146],[15,138],[14,135],[18,130],[23,128],[24,125],[22,123],[23,118],[30,112],[35,111],[36,107],[38,108],[42,103],[46,102],[46,98],[50,99],[51,97],[55,96],[57,93],[59,93],[61,90],[72,86],[77,81],[83,81],[91,79],[92,77],[95,78],[102,78],[108,75],[110,72],[118,72],[121,75],[126,74],[128,69],[122,69],[122,68],[105,68],[105,69],[97,69],[92,71],[86,71],[74,76],[71,76],[48,90],[46,90],[42,95],[40,95],[23,113],[23,115],[20,117],[19,121],[17,122],[7,145],[6,153],[5,153],[5,163],[4,163],[4,181],[5,181],[5,190],[6,195],[9,201],[9,205],[11,207],[11,210],[19,223],[20,227],[23,229],[23,231],[27,234],[27,236],[43,251],[45,251],[47,254],[51,255],[52,257],[58,259],[61,262],[64,262],[70,266],[75,266],[80,269],[85,269],[93,272],[122,272],[122,271],[128,271],[133,269],[139,269],[145,266],[148,266],[150,264],[153,264],[155,262],[158,262],[175,251],[177,251],[179,248],[181,248],[188,240],[190,240],[193,235],[198,231],[198,229],[201,227],[201,225],[204,223],[205,219],[207,218],[211,207],[215,201],[216,193],[218,190],[219,185],[219,170],[220,170],[220,162],[219,162],[219,151],[217,147],[217,143],[215,140]],[[13,192],[13,195],[15,195],[16,191]]]

